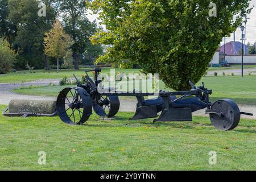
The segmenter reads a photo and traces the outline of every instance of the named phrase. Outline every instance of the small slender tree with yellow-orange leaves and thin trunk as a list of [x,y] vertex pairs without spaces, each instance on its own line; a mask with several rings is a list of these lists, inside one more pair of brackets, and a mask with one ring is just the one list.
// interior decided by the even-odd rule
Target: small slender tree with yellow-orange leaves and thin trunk
[[60,21],[56,20],[44,38],[44,52],[57,59],[57,73],[59,72],[59,59],[70,53],[72,44],[72,38],[64,32]]

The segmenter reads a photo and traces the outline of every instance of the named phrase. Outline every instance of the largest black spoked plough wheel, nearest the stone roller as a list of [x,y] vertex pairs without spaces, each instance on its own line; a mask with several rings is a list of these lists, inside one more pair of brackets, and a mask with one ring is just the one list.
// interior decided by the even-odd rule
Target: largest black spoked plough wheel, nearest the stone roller
[[60,119],[69,125],[81,125],[92,114],[92,101],[82,88],[65,88],[57,98]]

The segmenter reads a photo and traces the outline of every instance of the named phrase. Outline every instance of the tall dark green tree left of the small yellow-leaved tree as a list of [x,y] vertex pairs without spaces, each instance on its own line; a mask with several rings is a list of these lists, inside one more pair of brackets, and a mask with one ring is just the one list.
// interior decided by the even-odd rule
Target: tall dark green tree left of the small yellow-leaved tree
[[[55,11],[46,7],[46,16],[39,16],[38,0],[9,0],[9,19],[16,26],[14,47],[18,52],[16,67],[24,68],[28,63],[35,68],[46,65],[43,38],[55,19]],[[46,66],[47,67],[47,66]]]

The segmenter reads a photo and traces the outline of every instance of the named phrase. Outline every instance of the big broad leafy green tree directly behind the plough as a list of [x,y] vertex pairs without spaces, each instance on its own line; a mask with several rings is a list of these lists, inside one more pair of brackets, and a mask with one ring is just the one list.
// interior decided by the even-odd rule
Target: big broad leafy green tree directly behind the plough
[[[159,73],[174,90],[198,82],[224,36],[229,36],[250,13],[248,0],[95,0],[88,5],[99,13],[106,31],[93,43],[108,46],[98,62],[129,60],[144,73]],[[216,16],[212,16],[216,13]],[[236,15],[236,19],[234,16]]]

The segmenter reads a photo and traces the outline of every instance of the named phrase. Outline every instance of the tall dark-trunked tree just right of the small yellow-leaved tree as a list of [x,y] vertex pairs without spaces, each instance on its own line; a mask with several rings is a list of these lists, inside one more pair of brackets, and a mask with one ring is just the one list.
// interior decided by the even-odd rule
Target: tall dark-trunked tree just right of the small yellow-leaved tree
[[60,10],[63,13],[65,31],[72,36],[75,69],[79,69],[79,56],[102,54],[102,48],[92,45],[90,37],[96,32],[97,23],[86,17],[84,0],[62,0]]

